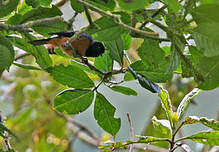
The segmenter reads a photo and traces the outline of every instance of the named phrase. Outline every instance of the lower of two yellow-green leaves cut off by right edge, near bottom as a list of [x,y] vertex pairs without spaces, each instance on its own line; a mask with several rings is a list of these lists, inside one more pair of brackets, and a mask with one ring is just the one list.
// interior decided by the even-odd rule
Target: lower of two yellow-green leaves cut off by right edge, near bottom
[[200,132],[183,139],[190,139],[206,145],[219,145],[219,131]]

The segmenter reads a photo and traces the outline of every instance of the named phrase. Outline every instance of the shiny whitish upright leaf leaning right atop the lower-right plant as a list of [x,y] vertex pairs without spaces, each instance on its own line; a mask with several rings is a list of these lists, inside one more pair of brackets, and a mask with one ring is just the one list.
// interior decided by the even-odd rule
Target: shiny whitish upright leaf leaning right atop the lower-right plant
[[183,116],[185,110],[187,109],[188,105],[190,104],[190,101],[195,96],[197,96],[200,92],[201,92],[200,89],[195,88],[183,98],[183,100],[180,102],[180,105],[177,108],[177,115],[178,115],[179,119]]

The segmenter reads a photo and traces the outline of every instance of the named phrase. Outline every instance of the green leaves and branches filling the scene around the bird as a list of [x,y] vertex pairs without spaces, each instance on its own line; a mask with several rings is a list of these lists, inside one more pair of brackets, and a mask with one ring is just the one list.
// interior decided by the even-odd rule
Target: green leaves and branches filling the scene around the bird
[[[155,9],[149,8],[155,2],[160,6]],[[170,145],[169,151],[172,152],[179,147],[178,143],[186,139],[207,145],[219,144],[216,120],[197,117],[186,117],[184,120],[183,118],[187,107],[200,89],[212,90],[219,86],[218,2],[71,0],[70,5],[76,13],[69,21],[62,18],[59,4],[51,5],[51,3],[51,0],[0,1],[0,75],[4,77],[5,70],[13,73],[12,65],[19,67],[21,71],[19,73],[18,70],[18,78],[13,80],[17,82],[13,92],[17,101],[13,109],[16,116],[8,122],[8,125],[19,124],[17,127],[12,127],[16,133],[16,130],[24,127],[25,124],[31,124],[33,120],[39,121],[39,124],[34,123],[39,129],[34,131],[33,128],[29,128],[25,131],[33,132],[34,142],[41,145],[36,146],[36,151],[52,151],[57,145],[56,151],[68,150],[71,142],[65,131],[65,124],[69,119],[63,113],[79,114],[92,102],[97,124],[115,137],[121,127],[121,119],[115,117],[115,112],[119,109],[116,109],[98,88],[104,84],[115,92],[137,96],[135,90],[121,85],[124,81],[133,80],[137,80],[141,87],[156,93],[160,98],[163,108],[161,113],[165,119],[153,117],[152,122],[154,128],[165,130],[163,132],[165,134],[158,133],[159,137],[139,136],[137,141],[110,143],[100,148],[107,151],[117,148],[126,149],[127,145],[134,143],[167,142]],[[97,18],[95,14],[89,12],[90,10],[100,16]],[[55,49],[56,55],[50,55],[44,46],[35,47],[29,43],[37,39],[39,34],[48,37],[51,32],[72,30],[75,16],[83,12],[90,24],[81,30],[104,44],[106,51],[102,56],[92,59],[75,58],[63,54],[60,49]],[[166,36],[161,37],[147,23],[164,31]],[[137,50],[135,53],[138,54],[138,58],[130,60],[128,50],[133,50],[134,41],[139,39],[141,39],[139,46],[134,48]],[[195,44],[191,44],[191,40]],[[163,47],[162,42],[169,43]],[[25,55],[19,60],[21,50]],[[172,81],[175,73],[178,73],[178,77],[193,78],[193,87],[196,87],[183,99],[178,99],[176,105],[170,99],[168,91],[160,84],[156,84],[167,84]],[[114,82],[114,76],[117,74],[124,74],[124,79]],[[38,78],[38,76],[42,77]],[[20,81],[19,77],[25,77],[26,80]],[[46,80],[45,78],[55,80],[51,80],[53,84],[48,85],[51,88],[40,84],[40,80]],[[99,82],[95,83],[96,80]],[[23,92],[25,88],[26,92]],[[40,91],[36,91],[35,88]],[[52,92],[51,95],[48,95],[49,91]],[[57,92],[60,93],[55,96]],[[23,100],[26,98],[28,107]],[[46,101],[47,104],[42,101]],[[40,116],[43,114],[37,110],[42,108],[43,111],[50,105],[53,105],[54,111],[50,111],[48,117],[41,119]],[[178,107],[176,112],[174,107]],[[57,122],[51,120],[57,116],[59,116]],[[33,119],[27,119],[28,117]],[[44,123],[48,123],[47,120],[51,120],[50,134],[46,132],[48,128],[42,127]],[[212,128],[212,131],[175,139],[182,126],[194,123],[201,123]],[[52,130],[56,125],[60,127],[60,132]],[[6,132],[15,136],[15,133],[3,123],[0,129],[0,135],[5,140],[8,139],[5,136]],[[24,137],[24,134],[20,133],[20,136]],[[46,145],[45,141],[48,139],[52,139],[50,142],[53,144]],[[58,144],[55,143],[55,139],[59,139]],[[16,143],[13,140],[12,142]],[[28,145],[24,141],[23,144]],[[31,147],[33,148],[34,144]],[[24,151],[25,148],[21,149]]]

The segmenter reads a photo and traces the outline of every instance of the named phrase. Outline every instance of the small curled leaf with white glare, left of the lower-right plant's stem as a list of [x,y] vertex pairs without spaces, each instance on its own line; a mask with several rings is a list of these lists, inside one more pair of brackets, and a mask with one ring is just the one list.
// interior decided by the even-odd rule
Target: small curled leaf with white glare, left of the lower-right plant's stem
[[[172,128],[171,128],[169,120],[166,120],[166,119],[159,120],[159,119],[157,119],[156,116],[153,116],[152,123],[154,126],[160,127],[161,130],[168,129],[169,133],[172,133]],[[165,128],[165,129],[163,129],[163,128]]]

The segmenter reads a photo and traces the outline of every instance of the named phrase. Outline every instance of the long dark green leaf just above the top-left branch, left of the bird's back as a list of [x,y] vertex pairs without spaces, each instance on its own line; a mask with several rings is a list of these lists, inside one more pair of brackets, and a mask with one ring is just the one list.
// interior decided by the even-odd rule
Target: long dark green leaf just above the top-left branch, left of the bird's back
[[54,5],[52,6],[52,8],[40,6],[31,9],[30,11],[25,13],[17,24],[22,24],[28,21],[34,21],[37,19],[49,18],[49,17],[61,16],[61,15],[62,12]]

